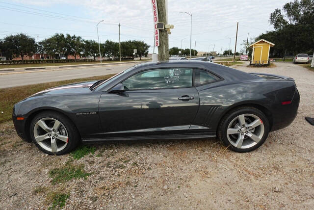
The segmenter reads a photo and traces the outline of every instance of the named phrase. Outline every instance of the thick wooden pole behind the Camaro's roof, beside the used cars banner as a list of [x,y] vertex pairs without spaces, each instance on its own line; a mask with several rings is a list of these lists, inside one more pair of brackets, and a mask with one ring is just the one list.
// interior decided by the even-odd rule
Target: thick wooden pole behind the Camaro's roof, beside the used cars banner
[[[165,0],[157,0],[157,8],[159,23],[165,23],[166,25],[167,13]],[[169,60],[169,40],[167,30],[159,30],[158,60]]]

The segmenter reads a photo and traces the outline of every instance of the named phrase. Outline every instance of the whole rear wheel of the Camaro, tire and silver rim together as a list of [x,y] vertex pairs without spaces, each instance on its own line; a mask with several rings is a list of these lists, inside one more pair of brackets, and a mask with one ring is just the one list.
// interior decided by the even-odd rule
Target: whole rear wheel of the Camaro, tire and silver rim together
[[241,107],[222,119],[218,137],[236,152],[250,152],[260,147],[269,132],[267,117],[257,108]]

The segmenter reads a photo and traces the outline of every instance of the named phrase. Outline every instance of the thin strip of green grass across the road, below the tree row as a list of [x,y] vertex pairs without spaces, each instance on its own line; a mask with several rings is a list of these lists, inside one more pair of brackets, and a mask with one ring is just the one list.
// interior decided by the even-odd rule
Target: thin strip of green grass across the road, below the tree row
[[[140,60],[136,60],[140,61]],[[103,61],[103,63],[112,63],[119,61]],[[134,62],[134,60],[123,60],[122,62]],[[41,66],[67,66],[67,65],[83,65],[83,64],[100,64],[100,61],[91,62],[69,62],[69,63],[27,63],[27,64],[0,64],[0,69],[6,68],[29,68],[29,67],[41,67]]]

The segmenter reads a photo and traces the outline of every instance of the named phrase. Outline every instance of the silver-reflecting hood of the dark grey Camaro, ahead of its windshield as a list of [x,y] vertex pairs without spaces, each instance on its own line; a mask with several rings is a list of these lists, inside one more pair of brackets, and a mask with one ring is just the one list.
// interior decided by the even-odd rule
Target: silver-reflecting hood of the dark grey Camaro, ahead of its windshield
[[88,93],[91,92],[89,89],[97,80],[94,81],[84,81],[84,82],[77,82],[71,83],[66,85],[61,85],[57,87],[52,87],[38,93],[33,94],[33,96],[40,96],[40,95],[63,95],[63,94],[80,94],[80,93]]

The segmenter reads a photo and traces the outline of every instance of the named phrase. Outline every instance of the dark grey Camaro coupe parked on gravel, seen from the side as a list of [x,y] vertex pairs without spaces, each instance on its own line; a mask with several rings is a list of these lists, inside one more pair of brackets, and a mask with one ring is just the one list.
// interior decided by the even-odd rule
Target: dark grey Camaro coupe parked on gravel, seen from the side
[[14,105],[12,117],[18,135],[47,154],[81,141],[215,136],[249,152],[291,124],[299,102],[292,78],[175,60],[41,91]]

